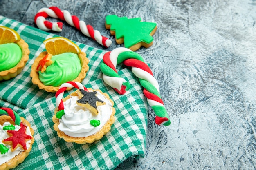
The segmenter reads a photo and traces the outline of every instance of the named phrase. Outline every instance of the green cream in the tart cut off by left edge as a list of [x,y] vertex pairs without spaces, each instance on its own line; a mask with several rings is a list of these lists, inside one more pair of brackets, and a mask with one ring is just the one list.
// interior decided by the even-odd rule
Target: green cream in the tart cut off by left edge
[[22,57],[20,46],[16,43],[0,44],[0,71],[15,67]]

